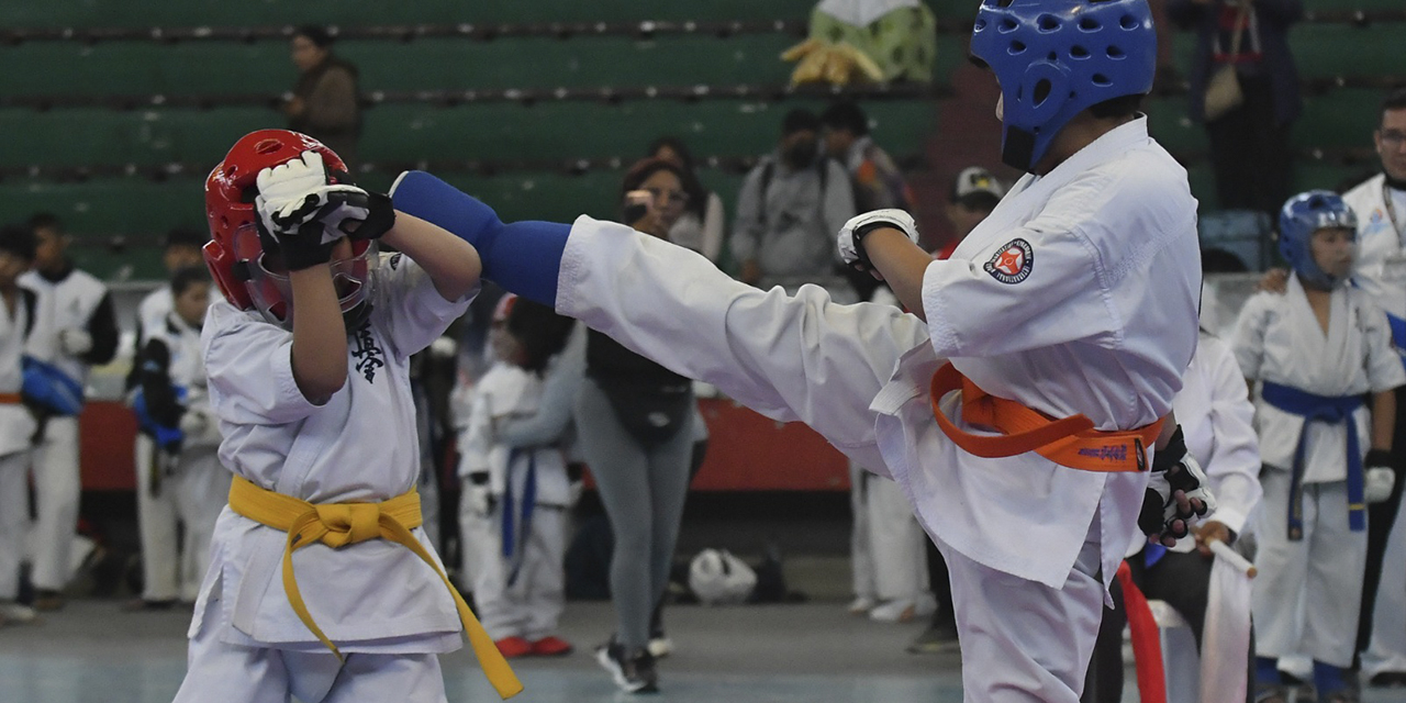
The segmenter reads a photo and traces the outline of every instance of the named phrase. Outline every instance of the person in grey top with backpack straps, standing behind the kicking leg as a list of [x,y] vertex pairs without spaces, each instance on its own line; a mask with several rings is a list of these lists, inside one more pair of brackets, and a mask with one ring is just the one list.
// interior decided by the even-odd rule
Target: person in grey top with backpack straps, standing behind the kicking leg
[[[806,283],[835,285],[835,232],[855,215],[849,174],[820,150],[820,118],[792,110],[782,139],[742,181],[733,225],[733,256],[744,283],[794,290]],[[842,283],[837,302],[858,298]],[[842,295],[835,295],[837,292]]]

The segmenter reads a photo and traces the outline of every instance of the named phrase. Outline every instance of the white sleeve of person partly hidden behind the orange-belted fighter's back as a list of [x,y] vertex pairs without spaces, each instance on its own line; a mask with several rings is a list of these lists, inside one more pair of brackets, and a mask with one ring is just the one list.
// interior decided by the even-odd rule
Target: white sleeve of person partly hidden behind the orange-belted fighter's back
[[1234,354],[1220,340],[1201,339],[1204,373],[1211,387],[1211,461],[1206,477],[1216,494],[1215,519],[1241,534],[1264,491],[1260,488],[1260,441],[1254,405]]

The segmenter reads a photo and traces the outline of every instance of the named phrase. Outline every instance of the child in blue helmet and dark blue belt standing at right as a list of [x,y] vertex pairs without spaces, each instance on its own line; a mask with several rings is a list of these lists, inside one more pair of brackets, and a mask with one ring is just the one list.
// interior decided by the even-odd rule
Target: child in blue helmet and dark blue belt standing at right
[[1392,492],[1392,391],[1406,384],[1386,315],[1346,285],[1355,240],[1341,197],[1289,198],[1279,212],[1288,290],[1251,297],[1236,321],[1236,360],[1260,382],[1257,700],[1286,700],[1277,664],[1294,654],[1313,658],[1319,700],[1355,700],[1343,669],[1357,645],[1367,503]]

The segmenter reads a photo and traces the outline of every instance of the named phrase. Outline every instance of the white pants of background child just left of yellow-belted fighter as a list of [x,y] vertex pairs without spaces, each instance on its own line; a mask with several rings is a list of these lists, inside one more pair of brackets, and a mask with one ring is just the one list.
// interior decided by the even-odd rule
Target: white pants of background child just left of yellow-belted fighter
[[[156,443],[136,436],[136,519],[142,537],[142,598],[194,602],[209,569],[209,541],[215,520],[229,501],[233,477],[219,464],[215,447],[181,454],[176,471],[163,475],[152,495],[152,460]],[[184,540],[177,550],[177,526]]]

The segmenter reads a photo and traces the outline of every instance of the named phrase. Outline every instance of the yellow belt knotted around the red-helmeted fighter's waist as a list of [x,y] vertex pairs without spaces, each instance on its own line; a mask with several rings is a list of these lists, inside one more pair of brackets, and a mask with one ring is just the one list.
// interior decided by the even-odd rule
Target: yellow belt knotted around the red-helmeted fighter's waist
[[454,596],[458,619],[464,623],[464,634],[468,636],[468,643],[474,647],[474,654],[478,655],[478,662],[484,668],[484,673],[488,675],[489,683],[498,689],[498,695],[506,699],[522,693],[523,685],[517,681],[513,669],[508,666],[508,659],[494,645],[494,640],[484,631],[484,626],[478,624],[474,612],[464,603],[458,591],[450,585],[444,571],[425,551],[420,541],[411,534],[411,530],[423,522],[420,495],[415,489],[380,503],[314,505],[263,489],[236,475],[235,482],[229,486],[229,508],[260,524],[288,533],[287,547],[283,550],[283,589],[288,593],[288,603],[292,606],[292,612],[298,613],[302,624],[308,626],[308,630],[318,636],[318,641],[332,650],[332,654],[336,654],[339,659],[342,652],[332,644],[332,640],[322,634],[322,628],[312,621],[308,606],[302,602],[298,581],[292,575],[292,553],[319,541],[337,548],[368,540],[389,540],[413,551],[439,574],[444,588]]

